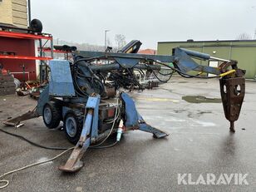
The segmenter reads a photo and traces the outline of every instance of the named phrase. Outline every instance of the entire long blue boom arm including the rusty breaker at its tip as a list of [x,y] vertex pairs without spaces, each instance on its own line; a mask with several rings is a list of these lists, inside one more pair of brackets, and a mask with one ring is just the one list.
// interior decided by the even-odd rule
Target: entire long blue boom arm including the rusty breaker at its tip
[[[99,60],[111,61],[111,64],[90,65],[91,71],[94,72],[121,71],[124,69],[160,71],[161,66],[165,66],[184,77],[219,78],[225,117],[230,121],[230,130],[234,132],[234,121],[239,118],[245,92],[245,71],[238,68],[236,61],[211,57],[206,53],[194,52],[180,47],[174,48],[171,56],[119,52],[76,52],[76,54],[79,55],[76,62],[84,62],[81,65],[88,66],[88,63]],[[218,61],[220,65],[219,67],[199,65],[194,62],[193,58],[202,61]],[[174,64],[173,67],[165,64],[170,62]],[[188,74],[190,71],[198,71],[199,73],[194,76]],[[203,72],[215,76],[200,76]]]

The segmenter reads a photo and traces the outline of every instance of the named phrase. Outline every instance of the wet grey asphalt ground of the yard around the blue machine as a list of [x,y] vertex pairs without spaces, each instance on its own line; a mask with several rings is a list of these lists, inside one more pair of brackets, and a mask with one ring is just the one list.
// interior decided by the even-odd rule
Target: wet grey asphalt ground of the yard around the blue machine
[[[121,142],[104,150],[88,150],[85,166],[76,174],[57,169],[68,155],[45,165],[7,176],[2,191],[255,191],[256,190],[256,82],[246,81],[244,106],[229,133],[229,121],[219,102],[193,103],[182,96],[220,98],[219,81],[173,78],[155,90],[133,92],[138,111],[151,126],[170,135],[154,139],[135,130]],[[199,97],[201,98],[201,97]],[[0,121],[31,110],[28,96],[0,96]],[[48,130],[42,118],[26,121],[14,129],[1,129],[26,136],[48,146],[71,146],[61,130]],[[109,140],[111,143],[113,140]],[[46,160],[61,151],[44,150],[0,132],[0,175],[9,170]],[[207,174],[248,174],[249,185],[178,185],[178,174],[191,174],[192,181]],[[187,177],[185,181],[188,181]]]

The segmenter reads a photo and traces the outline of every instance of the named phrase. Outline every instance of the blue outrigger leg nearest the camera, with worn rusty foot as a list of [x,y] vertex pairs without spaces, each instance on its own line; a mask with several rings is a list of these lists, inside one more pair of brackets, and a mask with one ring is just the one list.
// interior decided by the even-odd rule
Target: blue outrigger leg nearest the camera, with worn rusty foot
[[81,170],[83,167],[84,164],[81,161],[81,157],[91,144],[91,126],[93,126],[94,121],[98,121],[96,116],[94,116],[94,110],[98,108],[99,103],[100,96],[89,97],[86,103],[86,109],[88,112],[86,114],[86,120],[84,121],[83,128],[81,130],[80,139],[76,143],[76,146],[72,151],[69,159],[66,161],[66,164],[59,166],[59,170],[63,170],[65,172],[76,172],[77,170]]

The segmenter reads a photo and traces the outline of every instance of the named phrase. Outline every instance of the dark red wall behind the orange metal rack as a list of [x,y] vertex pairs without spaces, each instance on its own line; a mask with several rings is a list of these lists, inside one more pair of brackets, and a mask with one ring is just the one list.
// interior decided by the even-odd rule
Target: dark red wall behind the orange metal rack
[[[17,56],[35,57],[35,41],[12,37],[0,37],[0,52],[15,52]],[[25,66],[25,80],[37,80],[36,61],[19,59],[1,59],[2,66],[13,73],[14,77],[23,80],[22,66]]]

